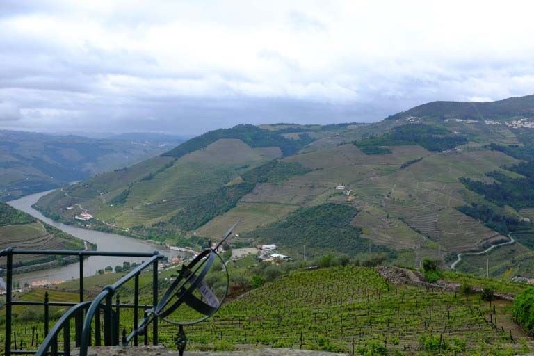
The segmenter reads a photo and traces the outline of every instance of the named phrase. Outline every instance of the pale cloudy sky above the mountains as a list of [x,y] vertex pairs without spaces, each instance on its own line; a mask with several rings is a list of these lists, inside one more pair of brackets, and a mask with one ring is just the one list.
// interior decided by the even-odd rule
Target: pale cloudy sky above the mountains
[[0,129],[194,135],[534,93],[534,1],[0,0]]

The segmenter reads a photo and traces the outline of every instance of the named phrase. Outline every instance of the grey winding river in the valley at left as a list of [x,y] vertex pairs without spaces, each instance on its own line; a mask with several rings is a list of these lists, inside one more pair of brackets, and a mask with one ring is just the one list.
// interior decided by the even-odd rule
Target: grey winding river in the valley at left
[[[45,223],[53,225],[63,232],[67,232],[72,236],[81,238],[82,240],[89,241],[90,243],[97,244],[97,250],[99,251],[113,251],[113,252],[153,252],[159,251],[165,256],[172,258],[179,255],[179,252],[169,250],[165,246],[154,243],[152,241],[138,240],[127,236],[118,234],[110,234],[108,232],[97,232],[87,229],[81,229],[72,225],[65,225],[63,223],[57,223],[54,220],[43,216],[42,213],[31,207],[35,202],[39,200],[43,195],[48,194],[51,191],[45,191],[41,193],[35,193],[26,195],[17,200],[8,202],[10,206],[25,211],[31,216],[43,220]],[[99,269],[104,269],[106,266],[122,266],[122,262],[137,262],[143,261],[142,258],[135,257],[106,257],[106,256],[92,256],[83,261],[83,273],[85,276],[95,275]],[[68,264],[66,266],[60,266],[56,268],[49,268],[46,270],[38,270],[30,273],[19,273],[13,277],[15,281],[31,283],[35,280],[70,280],[72,278],[79,277],[79,264]]]

